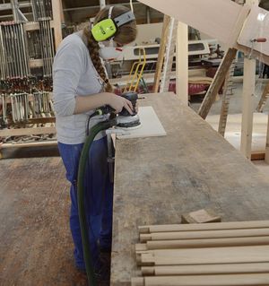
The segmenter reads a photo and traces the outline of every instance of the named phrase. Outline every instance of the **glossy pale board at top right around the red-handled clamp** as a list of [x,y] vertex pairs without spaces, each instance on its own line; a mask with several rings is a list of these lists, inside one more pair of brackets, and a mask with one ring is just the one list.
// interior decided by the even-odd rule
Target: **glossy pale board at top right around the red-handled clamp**
[[[269,56],[269,14],[263,8],[253,6],[247,21],[239,35],[238,43],[248,48],[254,48],[267,56]],[[252,43],[250,39],[265,38],[265,43]]]

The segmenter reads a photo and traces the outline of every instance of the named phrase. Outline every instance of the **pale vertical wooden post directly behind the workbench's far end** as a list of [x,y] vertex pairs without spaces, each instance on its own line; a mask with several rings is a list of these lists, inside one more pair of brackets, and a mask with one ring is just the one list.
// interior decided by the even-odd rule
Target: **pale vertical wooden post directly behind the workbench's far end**
[[188,105],[188,33],[187,24],[178,22],[177,32],[177,94]]

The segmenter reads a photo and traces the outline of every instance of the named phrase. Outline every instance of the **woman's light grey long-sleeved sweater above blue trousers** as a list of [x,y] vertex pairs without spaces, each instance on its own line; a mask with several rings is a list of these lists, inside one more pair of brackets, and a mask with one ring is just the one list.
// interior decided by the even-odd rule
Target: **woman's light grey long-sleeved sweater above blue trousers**
[[[57,141],[65,144],[83,143],[89,115],[74,115],[75,97],[100,93],[102,82],[91,62],[89,50],[81,33],[67,36],[56,51],[53,64],[53,101],[56,112]],[[106,117],[94,117],[91,126]],[[99,139],[104,134],[99,134]]]

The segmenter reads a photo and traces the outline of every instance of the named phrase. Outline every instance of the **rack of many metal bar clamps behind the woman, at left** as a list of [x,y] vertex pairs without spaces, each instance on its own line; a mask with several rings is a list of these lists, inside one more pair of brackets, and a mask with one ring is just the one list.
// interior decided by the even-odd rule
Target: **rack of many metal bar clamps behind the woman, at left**
[[56,144],[52,64],[62,40],[62,4],[34,0],[28,5],[34,22],[22,14],[24,3],[0,4],[1,10],[13,10],[13,21],[0,22],[0,157],[4,148]]

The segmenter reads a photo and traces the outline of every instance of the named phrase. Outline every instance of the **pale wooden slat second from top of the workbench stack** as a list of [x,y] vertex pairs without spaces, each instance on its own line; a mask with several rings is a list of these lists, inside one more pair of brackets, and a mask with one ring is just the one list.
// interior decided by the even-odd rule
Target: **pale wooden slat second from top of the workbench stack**
[[242,238],[261,236],[269,236],[269,229],[152,232],[150,234],[140,234],[140,241],[145,242],[148,240],[175,240],[195,238]]

